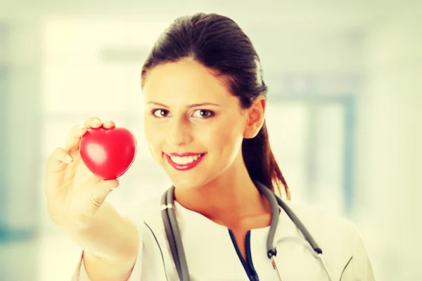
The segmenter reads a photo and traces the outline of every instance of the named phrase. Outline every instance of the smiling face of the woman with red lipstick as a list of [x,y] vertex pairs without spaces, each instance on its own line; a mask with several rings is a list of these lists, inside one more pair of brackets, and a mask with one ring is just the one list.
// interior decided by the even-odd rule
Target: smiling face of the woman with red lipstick
[[143,93],[146,141],[175,186],[203,186],[243,164],[248,110],[221,77],[179,60],[149,70]]

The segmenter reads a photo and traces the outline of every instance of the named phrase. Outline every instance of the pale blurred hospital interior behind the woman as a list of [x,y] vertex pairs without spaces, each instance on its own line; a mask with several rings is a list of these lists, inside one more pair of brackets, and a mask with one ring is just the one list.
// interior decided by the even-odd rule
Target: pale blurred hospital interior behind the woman
[[179,15],[216,12],[252,39],[271,144],[294,202],[359,226],[376,280],[422,280],[422,1],[0,0],[0,280],[70,280],[81,249],[49,221],[44,166],[98,116],[139,152],[110,201],[170,182],[143,139],[140,69]]

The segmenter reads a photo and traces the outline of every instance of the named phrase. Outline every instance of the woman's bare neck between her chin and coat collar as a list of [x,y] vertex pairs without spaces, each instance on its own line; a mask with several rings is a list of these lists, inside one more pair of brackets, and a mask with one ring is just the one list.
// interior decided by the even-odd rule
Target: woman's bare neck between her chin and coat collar
[[212,221],[236,221],[271,211],[269,203],[255,187],[243,164],[225,171],[206,185],[174,191],[179,204]]

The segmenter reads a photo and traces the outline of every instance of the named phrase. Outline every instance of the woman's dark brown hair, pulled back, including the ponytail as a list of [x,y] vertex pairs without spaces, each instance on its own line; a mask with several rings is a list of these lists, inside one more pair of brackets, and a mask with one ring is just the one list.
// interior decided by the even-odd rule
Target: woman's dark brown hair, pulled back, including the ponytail
[[[177,18],[162,32],[142,67],[142,86],[148,70],[158,64],[193,58],[226,77],[231,93],[249,108],[257,96],[267,96],[260,58],[249,37],[234,20],[215,13]],[[288,185],[271,151],[267,126],[255,138],[243,139],[242,154],[250,178],[281,194]]]

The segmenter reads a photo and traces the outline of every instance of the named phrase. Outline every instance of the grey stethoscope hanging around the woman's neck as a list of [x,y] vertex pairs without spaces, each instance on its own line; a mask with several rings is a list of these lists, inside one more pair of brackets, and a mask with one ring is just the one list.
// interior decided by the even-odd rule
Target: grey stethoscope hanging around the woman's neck
[[[314,249],[316,255],[318,256],[319,261],[321,262],[321,266],[326,271],[326,274],[330,281],[333,281],[333,276],[328,270],[327,263],[322,256],[322,250],[316,244],[314,238],[309,233],[307,228],[303,225],[300,221],[298,216],[293,213],[293,211],[288,207],[288,205],[281,200],[274,192],[269,190],[265,185],[258,181],[254,181],[257,189],[267,197],[267,200],[271,204],[271,225],[269,227],[269,233],[267,237],[267,256],[271,259],[271,263],[273,268],[276,270],[277,274],[279,275],[279,279],[281,280],[281,274],[279,272],[279,268],[276,265],[276,255],[277,250],[276,247],[273,247],[274,242],[274,234],[276,233],[276,228],[279,223],[279,207],[281,207],[289,218],[295,223],[298,227],[300,232],[305,236],[305,239],[311,247]],[[167,240],[170,244],[170,251],[172,251],[172,256],[174,260],[174,264],[177,269],[177,274],[181,281],[189,281],[189,272],[188,272],[188,264],[186,262],[186,256],[184,253],[183,243],[181,242],[181,234],[179,230],[179,225],[177,224],[176,215],[174,213],[174,186],[172,185],[171,188],[166,190],[161,197],[161,210],[162,210],[162,222],[164,223],[165,233],[167,235]],[[274,215],[276,214],[276,215]]]

